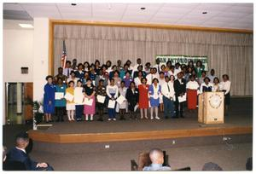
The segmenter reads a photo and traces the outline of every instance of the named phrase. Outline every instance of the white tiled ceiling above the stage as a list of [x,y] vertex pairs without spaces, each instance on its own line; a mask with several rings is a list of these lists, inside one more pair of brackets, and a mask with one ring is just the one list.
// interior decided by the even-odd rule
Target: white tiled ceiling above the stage
[[5,20],[34,17],[253,30],[253,3],[3,3]]

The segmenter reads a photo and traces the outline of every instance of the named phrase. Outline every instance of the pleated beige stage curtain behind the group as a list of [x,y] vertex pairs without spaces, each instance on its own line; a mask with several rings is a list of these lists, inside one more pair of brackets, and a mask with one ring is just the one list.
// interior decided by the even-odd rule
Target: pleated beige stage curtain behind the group
[[232,96],[253,95],[253,34],[114,26],[55,25],[55,73],[61,65],[62,39],[67,59],[114,63],[121,59],[154,64],[155,55],[207,55],[216,75],[228,73]]

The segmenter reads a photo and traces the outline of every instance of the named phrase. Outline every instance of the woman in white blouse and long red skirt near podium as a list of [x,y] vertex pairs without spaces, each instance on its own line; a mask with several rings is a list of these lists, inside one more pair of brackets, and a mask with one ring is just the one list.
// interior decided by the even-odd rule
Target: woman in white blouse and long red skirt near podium
[[199,84],[195,81],[195,76],[189,76],[190,81],[187,83],[187,95],[188,95],[188,109],[189,111],[195,110],[197,105],[197,90]]

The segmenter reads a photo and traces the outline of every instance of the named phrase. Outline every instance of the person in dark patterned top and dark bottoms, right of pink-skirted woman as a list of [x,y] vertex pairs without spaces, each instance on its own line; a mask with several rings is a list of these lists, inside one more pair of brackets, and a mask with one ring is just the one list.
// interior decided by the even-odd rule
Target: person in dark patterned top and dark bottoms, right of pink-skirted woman
[[[104,113],[104,107],[106,103],[106,87],[103,85],[104,84],[104,79],[99,80],[99,85],[96,87],[96,107],[98,108],[99,112],[99,119],[98,121],[103,121],[103,113]],[[100,101],[100,97],[104,98],[104,101]]]

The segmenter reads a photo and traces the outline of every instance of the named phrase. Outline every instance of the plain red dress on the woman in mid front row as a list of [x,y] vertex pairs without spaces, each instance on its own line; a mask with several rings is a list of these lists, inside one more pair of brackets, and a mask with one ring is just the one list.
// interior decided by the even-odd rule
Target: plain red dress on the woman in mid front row
[[143,84],[138,85],[139,90],[139,108],[148,108],[148,88],[149,85],[146,84],[146,87]]

